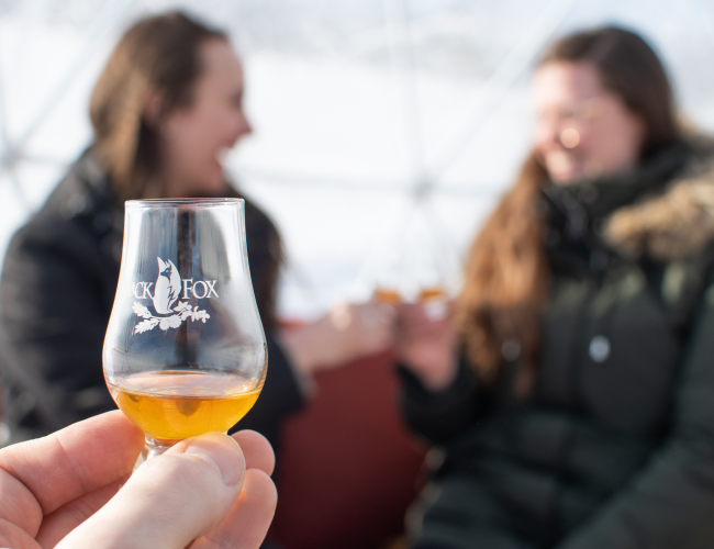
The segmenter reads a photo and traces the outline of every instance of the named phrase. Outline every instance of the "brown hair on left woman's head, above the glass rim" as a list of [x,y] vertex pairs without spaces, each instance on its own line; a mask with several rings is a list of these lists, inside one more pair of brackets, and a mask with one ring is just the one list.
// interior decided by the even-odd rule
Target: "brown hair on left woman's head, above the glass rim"
[[201,46],[227,35],[180,11],[134,23],[121,37],[99,77],[89,114],[93,148],[122,200],[160,197],[158,128],[144,109],[160,93],[159,116],[189,107],[202,72]]

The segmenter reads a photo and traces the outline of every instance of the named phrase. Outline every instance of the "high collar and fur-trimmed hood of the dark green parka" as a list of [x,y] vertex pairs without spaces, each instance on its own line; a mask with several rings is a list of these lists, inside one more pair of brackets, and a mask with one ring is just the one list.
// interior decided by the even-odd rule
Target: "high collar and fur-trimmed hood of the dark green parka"
[[549,240],[629,259],[673,260],[714,238],[714,163],[678,141],[620,177],[546,183]]

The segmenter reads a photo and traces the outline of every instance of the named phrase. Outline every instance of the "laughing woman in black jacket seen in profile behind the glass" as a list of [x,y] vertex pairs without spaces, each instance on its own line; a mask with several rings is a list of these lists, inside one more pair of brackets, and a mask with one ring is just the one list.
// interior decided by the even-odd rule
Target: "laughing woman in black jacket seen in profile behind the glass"
[[[222,154],[250,132],[243,68],[227,36],[172,12],[134,24],[91,97],[94,142],[44,208],[13,237],[0,284],[3,383],[13,441],[114,408],[101,368],[122,247],[124,201],[237,197]],[[241,422],[276,444],[280,422],[303,403],[302,378],[390,344],[373,305],[353,305],[278,344],[278,232],[245,203],[250,276],[264,323],[265,389]],[[352,315],[349,314],[352,313]],[[343,315],[345,316],[345,315]],[[342,329],[339,329],[342,328]]]

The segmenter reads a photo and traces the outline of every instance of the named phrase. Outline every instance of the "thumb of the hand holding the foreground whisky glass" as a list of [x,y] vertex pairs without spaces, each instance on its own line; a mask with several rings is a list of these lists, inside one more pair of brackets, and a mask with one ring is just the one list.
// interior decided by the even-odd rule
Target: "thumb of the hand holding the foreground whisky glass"
[[182,549],[223,520],[244,477],[245,459],[233,438],[217,433],[189,438],[144,462],[57,549]]

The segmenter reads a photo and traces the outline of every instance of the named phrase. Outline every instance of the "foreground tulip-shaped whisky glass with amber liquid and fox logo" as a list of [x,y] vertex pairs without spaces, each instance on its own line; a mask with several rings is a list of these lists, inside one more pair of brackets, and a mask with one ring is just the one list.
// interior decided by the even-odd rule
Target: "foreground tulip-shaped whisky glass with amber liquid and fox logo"
[[126,202],[103,368],[145,459],[225,433],[258,399],[267,347],[241,199]]

